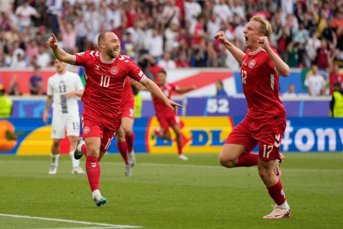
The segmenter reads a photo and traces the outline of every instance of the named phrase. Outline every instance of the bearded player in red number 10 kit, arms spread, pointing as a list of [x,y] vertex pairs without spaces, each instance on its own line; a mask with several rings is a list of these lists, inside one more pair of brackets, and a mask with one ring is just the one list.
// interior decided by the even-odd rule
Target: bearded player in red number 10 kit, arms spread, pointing
[[167,107],[177,112],[177,106],[161,89],[145,77],[138,66],[119,55],[119,38],[113,32],[103,32],[98,37],[100,52],[89,50],[70,55],[58,46],[54,34],[47,41],[56,59],[72,65],[85,67],[86,85],[81,97],[84,104],[82,114],[83,139],[79,138],[75,159],[86,156],[86,172],[92,196],[97,206],[107,200],[99,191],[100,165],[121,123],[121,99],[126,76],[141,82],[151,93],[163,100]]

